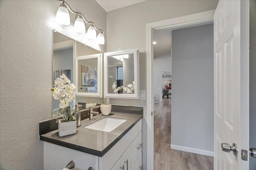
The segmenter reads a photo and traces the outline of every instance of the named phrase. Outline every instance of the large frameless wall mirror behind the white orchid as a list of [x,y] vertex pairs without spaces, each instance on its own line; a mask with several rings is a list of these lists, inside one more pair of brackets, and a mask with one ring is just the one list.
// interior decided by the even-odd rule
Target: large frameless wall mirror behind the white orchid
[[[85,102],[85,99],[79,96],[102,96],[101,51],[55,31],[53,31],[52,47],[52,86],[56,78],[65,74],[76,85],[76,103],[79,102],[76,100],[77,98],[80,99],[80,102]],[[76,61],[79,61],[77,65]],[[71,109],[76,103],[70,104]],[[59,104],[59,100],[52,98],[52,110],[58,109]],[[53,114],[53,116],[56,115]]]

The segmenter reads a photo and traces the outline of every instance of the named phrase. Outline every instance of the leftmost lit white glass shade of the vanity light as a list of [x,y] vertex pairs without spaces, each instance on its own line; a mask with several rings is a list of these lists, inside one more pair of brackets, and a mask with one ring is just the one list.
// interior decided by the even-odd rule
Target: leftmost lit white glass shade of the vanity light
[[70,16],[64,3],[60,4],[60,8],[56,13],[56,21],[63,25],[70,25]]

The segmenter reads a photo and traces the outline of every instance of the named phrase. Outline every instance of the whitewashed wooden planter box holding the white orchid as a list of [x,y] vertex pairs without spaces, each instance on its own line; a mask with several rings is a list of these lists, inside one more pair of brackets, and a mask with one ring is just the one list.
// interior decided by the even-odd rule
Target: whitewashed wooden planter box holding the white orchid
[[58,120],[58,131],[60,137],[76,133],[76,121],[68,121],[61,123],[61,120],[63,119]]

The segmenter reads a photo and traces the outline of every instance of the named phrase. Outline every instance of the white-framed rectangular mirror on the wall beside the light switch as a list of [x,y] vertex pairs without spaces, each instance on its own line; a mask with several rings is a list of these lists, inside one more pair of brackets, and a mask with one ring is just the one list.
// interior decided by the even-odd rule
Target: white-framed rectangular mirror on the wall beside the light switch
[[139,99],[139,50],[104,53],[104,97]]

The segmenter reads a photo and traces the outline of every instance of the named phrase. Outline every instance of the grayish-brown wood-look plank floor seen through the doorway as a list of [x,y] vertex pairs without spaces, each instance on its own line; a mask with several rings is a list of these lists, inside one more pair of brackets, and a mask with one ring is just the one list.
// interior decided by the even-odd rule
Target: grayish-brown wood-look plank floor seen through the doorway
[[213,157],[170,149],[171,98],[154,107],[154,170],[213,170]]

